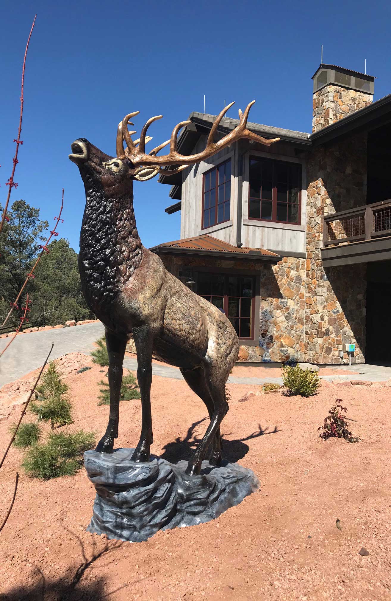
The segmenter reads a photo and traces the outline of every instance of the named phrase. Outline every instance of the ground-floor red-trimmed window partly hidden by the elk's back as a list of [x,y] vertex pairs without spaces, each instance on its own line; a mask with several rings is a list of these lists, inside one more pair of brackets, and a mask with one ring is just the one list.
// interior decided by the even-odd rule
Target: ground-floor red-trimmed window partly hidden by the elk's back
[[197,293],[225,313],[240,340],[254,340],[254,278],[198,272]]

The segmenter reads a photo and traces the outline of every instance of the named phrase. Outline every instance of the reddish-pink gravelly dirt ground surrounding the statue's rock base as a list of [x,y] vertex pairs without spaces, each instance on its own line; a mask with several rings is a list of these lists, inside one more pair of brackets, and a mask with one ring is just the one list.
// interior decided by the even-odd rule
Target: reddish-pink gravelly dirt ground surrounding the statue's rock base
[[[75,423],[64,431],[103,434],[109,407],[96,400],[103,376],[97,365],[68,374]],[[222,435],[225,457],[254,470],[260,491],[212,522],[124,543],[85,531],[95,490],[83,469],[44,482],[21,472],[0,534],[0,599],[389,599],[390,389],[324,382],[308,399],[278,392],[239,403],[250,388],[228,386]],[[318,438],[336,398],[363,442]],[[0,421],[3,448],[19,410]],[[152,452],[174,462],[206,429],[203,403],[181,380],[154,377],[152,416]],[[118,446],[134,446],[139,433],[140,401],[124,401]],[[21,459],[11,448],[1,470],[0,521]]]

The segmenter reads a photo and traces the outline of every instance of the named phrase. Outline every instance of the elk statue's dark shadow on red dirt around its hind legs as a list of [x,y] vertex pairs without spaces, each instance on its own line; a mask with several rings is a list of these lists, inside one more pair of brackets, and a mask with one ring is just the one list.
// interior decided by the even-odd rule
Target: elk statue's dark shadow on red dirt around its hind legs
[[[163,453],[160,454],[161,459],[166,459],[166,461],[169,461],[170,463],[177,463],[181,460],[190,459],[191,455],[194,453],[195,447],[197,447],[198,443],[201,441],[201,438],[194,435],[195,430],[200,424],[208,419],[208,417],[204,417],[195,421],[188,429],[185,438],[178,436],[175,441],[168,442],[164,445]],[[249,447],[245,444],[245,441],[251,441],[254,438],[259,438],[259,436],[264,436],[265,434],[276,434],[277,432],[281,432],[281,430],[278,430],[277,426],[275,426],[273,430],[270,430],[270,432],[268,430],[269,427],[263,429],[261,424],[258,424],[258,430],[256,432],[252,432],[245,438],[234,440],[224,438],[224,436],[231,435],[231,433],[226,433],[222,436],[222,457],[227,459],[230,463],[237,463],[240,459],[243,459],[249,451]]]

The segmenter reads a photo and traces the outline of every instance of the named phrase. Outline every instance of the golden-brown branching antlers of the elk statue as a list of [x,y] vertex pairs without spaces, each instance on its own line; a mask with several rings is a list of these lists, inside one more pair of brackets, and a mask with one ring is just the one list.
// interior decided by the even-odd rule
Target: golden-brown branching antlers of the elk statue
[[[178,123],[178,125],[176,125],[173,129],[170,140],[167,140],[163,144],[160,144],[159,146],[151,150],[149,154],[146,154],[145,144],[146,142],[152,139],[151,137],[146,136],[148,127],[151,125],[151,123],[154,123],[154,121],[161,119],[163,115],[157,115],[157,117],[151,117],[151,119],[148,119],[145,126],[143,126],[139,140],[133,141],[131,139],[131,135],[136,132],[128,131],[128,125],[133,125],[133,123],[130,121],[130,118],[134,117],[135,115],[138,115],[140,111],[130,113],[124,118],[124,120],[122,120],[122,123],[119,123],[118,125],[116,144],[117,156],[119,159],[124,159],[125,157],[127,157],[136,167],[140,165],[160,165],[162,167],[168,165],[181,165],[178,168],[170,169],[169,171],[167,171],[167,174],[174,175],[179,171],[182,171],[182,169],[185,169],[188,165],[193,165],[194,163],[198,163],[201,160],[207,159],[219,150],[222,150],[222,148],[225,148],[226,146],[232,144],[233,142],[236,142],[241,138],[246,138],[252,140],[253,142],[258,142],[259,144],[270,146],[271,144],[273,144],[273,142],[278,142],[279,138],[268,140],[266,138],[262,138],[262,136],[257,136],[257,134],[250,132],[250,130],[248,130],[246,127],[249,110],[251,109],[251,106],[254,104],[254,102],[255,100],[253,100],[249,103],[249,105],[246,106],[246,110],[244,113],[242,113],[242,111],[240,111],[239,109],[239,125],[237,125],[230,133],[225,135],[224,138],[221,138],[217,142],[214,142],[213,139],[215,137],[215,133],[218,129],[219,123],[222,117],[224,117],[225,113],[228,111],[228,109],[230,109],[231,106],[234,105],[234,102],[231,102],[228,106],[225,106],[225,108],[222,109],[220,114],[216,117],[216,120],[210,129],[209,136],[207,137],[206,147],[204,148],[204,150],[200,153],[190,154],[188,156],[179,154],[177,150],[177,138],[179,130],[181,130],[182,127],[187,126],[189,123],[191,123],[191,121],[181,121],[181,123]],[[127,148],[125,148],[125,150],[124,140],[127,144]],[[169,154],[157,156],[157,153],[162,148],[167,146],[167,144],[170,144]],[[162,172],[164,173],[165,170],[161,169],[161,173]]]

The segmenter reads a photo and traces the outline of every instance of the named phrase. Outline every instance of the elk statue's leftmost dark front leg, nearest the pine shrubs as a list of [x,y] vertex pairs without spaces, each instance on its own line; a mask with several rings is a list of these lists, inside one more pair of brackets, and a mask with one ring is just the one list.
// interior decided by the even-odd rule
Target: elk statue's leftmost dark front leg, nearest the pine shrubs
[[118,438],[119,397],[122,383],[122,363],[127,341],[106,331],[106,346],[109,355],[110,413],[106,433],[98,442],[98,453],[111,453],[114,439]]

